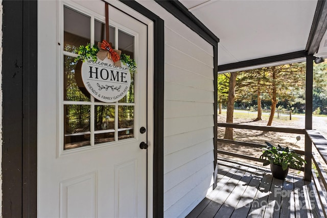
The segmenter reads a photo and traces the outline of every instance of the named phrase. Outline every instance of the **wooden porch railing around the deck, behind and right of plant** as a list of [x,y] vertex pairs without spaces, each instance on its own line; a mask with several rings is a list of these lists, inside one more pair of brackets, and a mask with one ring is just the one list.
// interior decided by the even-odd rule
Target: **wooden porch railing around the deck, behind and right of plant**
[[[306,136],[305,140],[305,151],[301,150],[294,150],[296,153],[300,155],[305,155],[306,151],[310,151],[312,154],[311,157],[305,157],[307,163],[305,164],[305,167],[301,168],[301,171],[304,171],[305,173],[305,180],[308,180],[307,178],[310,178],[309,181],[314,181],[316,189],[314,190],[315,196],[317,197],[317,201],[320,202],[320,211],[323,211],[325,217],[327,217],[327,203],[323,195],[323,189],[321,187],[324,186],[324,190],[327,190],[327,174],[325,170],[323,169],[322,164],[318,160],[318,156],[320,156],[324,163],[327,164],[327,139],[325,139],[318,131],[316,130],[305,130],[305,129],[293,129],[293,128],[281,128],[281,127],[269,127],[269,126],[251,126],[251,125],[240,125],[240,124],[229,124],[229,123],[218,123],[218,127],[226,127],[226,128],[234,128],[234,129],[247,129],[247,130],[259,130],[259,131],[267,131],[267,132],[281,132],[281,133],[295,133],[295,134],[302,134]],[[307,140],[308,139],[308,140]],[[236,140],[229,140],[229,139],[217,139],[218,143],[229,143],[229,144],[235,144],[238,146],[247,146],[251,148],[262,148],[264,145],[262,144],[256,144],[256,143],[250,143],[250,142],[244,142],[244,141],[236,141]],[[311,152],[312,144],[316,147],[319,154],[314,154]],[[227,152],[223,150],[218,149],[218,154],[224,154],[229,155],[232,157],[238,157],[243,158],[247,160],[252,161],[258,161],[263,162],[263,160],[251,157],[248,155],[243,154],[237,154],[232,152]],[[313,163],[317,169],[317,172],[312,169],[312,160]],[[305,169],[311,169],[305,170]],[[312,178],[312,179],[311,179]],[[320,182],[321,181],[321,182]],[[319,205],[319,204],[318,204]]]

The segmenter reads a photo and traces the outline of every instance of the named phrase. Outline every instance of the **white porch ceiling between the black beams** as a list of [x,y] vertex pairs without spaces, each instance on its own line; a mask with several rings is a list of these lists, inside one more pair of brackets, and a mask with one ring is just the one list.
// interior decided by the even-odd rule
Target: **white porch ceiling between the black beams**
[[[220,39],[218,65],[306,50],[317,6],[316,0],[180,3]],[[327,57],[326,33],[318,53]]]

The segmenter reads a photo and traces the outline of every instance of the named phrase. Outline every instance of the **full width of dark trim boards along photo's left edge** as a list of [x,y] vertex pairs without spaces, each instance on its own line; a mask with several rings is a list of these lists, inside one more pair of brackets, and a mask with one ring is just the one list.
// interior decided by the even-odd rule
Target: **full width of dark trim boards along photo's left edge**
[[37,1],[3,1],[4,217],[36,217]]

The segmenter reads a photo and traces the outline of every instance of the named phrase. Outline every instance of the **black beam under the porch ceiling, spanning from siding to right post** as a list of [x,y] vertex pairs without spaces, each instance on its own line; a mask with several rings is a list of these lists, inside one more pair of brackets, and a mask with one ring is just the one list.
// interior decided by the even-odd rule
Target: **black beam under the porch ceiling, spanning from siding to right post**
[[218,66],[218,72],[233,70],[233,69],[241,69],[245,67],[251,67],[251,66],[262,65],[262,64],[269,64],[269,63],[285,61],[285,60],[292,60],[297,58],[304,58],[306,56],[307,54],[305,51],[298,51],[298,52],[291,52],[282,55],[274,55],[264,58],[247,60],[247,61],[240,61],[236,63],[223,64]]

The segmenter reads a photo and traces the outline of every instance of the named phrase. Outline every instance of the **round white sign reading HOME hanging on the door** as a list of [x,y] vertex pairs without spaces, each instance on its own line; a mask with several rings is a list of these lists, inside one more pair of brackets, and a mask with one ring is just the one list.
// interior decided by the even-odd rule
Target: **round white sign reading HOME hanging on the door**
[[124,98],[131,84],[128,66],[114,66],[111,59],[92,61],[82,64],[81,76],[86,90],[102,102],[116,102]]

